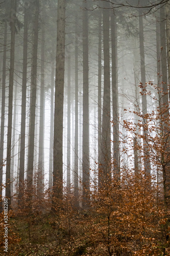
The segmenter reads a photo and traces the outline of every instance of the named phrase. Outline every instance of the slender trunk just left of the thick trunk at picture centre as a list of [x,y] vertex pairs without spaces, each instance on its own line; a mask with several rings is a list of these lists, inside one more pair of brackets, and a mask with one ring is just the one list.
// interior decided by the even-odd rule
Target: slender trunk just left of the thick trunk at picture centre
[[[75,198],[79,197],[79,99],[78,99],[78,16],[76,15],[75,20],[75,168],[74,168],[74,195]],[[79,202],[76,201],[76,205],[79,205]]]

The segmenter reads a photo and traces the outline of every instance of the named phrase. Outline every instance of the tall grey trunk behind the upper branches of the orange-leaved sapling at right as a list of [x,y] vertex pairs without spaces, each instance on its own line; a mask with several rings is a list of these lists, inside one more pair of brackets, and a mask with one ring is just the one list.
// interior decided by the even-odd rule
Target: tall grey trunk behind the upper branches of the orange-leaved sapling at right
[[[144,34],[143,34],[143,13],[139,9],[139,46],[140,46],[140,70],[141,70],[141,83],[142,83],[142,115],[143,115],[143,128],[145,123],[145,115],[147,114],[147,95],[145,94],[145,60],[144,60]],[[144,90],[144,91],[143,91]],[[151,163],[149,158],[149,148],[147,145],[148,131],[143,129],[143,152],[144,152],[144,170],[146,174],[151,174]]]

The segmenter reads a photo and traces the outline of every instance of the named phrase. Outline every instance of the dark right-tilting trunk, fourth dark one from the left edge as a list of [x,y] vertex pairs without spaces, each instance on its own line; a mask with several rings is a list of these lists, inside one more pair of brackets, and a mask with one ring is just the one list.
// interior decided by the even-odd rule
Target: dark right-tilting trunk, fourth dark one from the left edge
[[31,96],[30,96],[31,97],[30,127],[29,127],[28,166],[27,166],[27,181],[28,181],[27,190],[30,193],[30,199],[32,199],[33,168],[34,168],[35,112],[36,112],[36,94],[37,94],[38,20],[39,20],[39,0],[35,2],[34,42],[33,42],[32,74],[31,74]]

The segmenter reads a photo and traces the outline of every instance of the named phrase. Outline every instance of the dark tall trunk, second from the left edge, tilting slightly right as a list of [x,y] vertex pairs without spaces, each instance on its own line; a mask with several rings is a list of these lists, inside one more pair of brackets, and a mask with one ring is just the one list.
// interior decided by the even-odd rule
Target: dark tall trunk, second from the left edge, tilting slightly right
[[8,134],[7,134],[7,167],[6,167],[6,191],[5,196],[9,199],[11,207],[11,140],[12,140],[12,106],[13,106],[13,83],[14,83],[14,59],[15,59],[15,24],[16,24],[16,0],[11,0],[10,26],[11,26],[11,50],[10,50],[10,73],[9,73],[9,96],[8,96]]

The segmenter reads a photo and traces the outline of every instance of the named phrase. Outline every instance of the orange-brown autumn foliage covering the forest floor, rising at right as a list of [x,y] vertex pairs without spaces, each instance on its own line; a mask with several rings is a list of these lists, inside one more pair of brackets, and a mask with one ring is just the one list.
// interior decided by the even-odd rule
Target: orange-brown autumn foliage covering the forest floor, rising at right
[[[93,180],[90,194],[85,199],[88,202],[83,203],[85,208],[81,207],[83,199],[78,206],[74,187],[56,183],[53,191],[63,187],[61,197],[52,197],[51,191],[44,189],[39,198],[36,176],[32,191],[23,184],[22,204],[20,202],[13,216],[10,211],[9,248],[13,255],[170,254],[169,115],[163,100],[166,94],[152,82],[149,86],[151,91],[147,90],[147,84],[144,87],[140,84],[141,94],[145,93],[152,99],[152,110],[143,115],[136,103],[133,114],[137,121],[124,120],[127,133],[123,137],[123,152],[128,155],[129,162],[123,161],[119,174],[110,167],[114,165],[114,159],[107,168],[110,173],[104,174],[100,165],[98,174],[102,178],[99,184],[90,170]],[[134,163],[135,151],[140,162],[138,168]],[[151,161],[151,174],[145,173],[146,160]],[[3,214],[1,218],[2,223]]]

